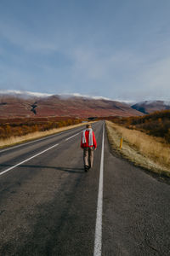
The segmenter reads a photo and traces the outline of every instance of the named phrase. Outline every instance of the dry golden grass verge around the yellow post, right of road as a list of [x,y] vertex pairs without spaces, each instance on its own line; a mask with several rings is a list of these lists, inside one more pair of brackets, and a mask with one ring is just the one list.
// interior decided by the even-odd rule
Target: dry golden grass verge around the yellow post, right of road
[[[106,127],[112,147],[127,159],[151,171],[170,176],[168,144],[161,143],[156,137],[151,137],[144,132],[129,130],[110,121],[106,121]],[[122,150],[119,148],[121,137],[123,137]]]

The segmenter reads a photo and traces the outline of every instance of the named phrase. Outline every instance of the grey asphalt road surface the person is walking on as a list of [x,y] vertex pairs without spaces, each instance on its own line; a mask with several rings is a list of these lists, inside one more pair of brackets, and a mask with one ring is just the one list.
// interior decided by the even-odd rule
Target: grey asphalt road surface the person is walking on
[[84,172],[82,129],[0,151],[0,255],[170,255],[169,183],[111,154],[102,121]]

